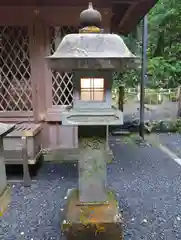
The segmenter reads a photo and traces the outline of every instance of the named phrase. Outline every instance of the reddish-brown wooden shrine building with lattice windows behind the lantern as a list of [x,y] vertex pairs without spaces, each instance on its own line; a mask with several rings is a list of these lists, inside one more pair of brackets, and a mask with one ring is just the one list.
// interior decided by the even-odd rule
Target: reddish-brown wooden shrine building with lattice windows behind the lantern
[[[126,35],[156,0],[93,0],[102,28]],[[72,77],[48,69],[63,36],[79,29],[85,0],[0,0],[0,122],[42,123],[44,148],[76,145],[75,127],[61,126],[72,103]]]

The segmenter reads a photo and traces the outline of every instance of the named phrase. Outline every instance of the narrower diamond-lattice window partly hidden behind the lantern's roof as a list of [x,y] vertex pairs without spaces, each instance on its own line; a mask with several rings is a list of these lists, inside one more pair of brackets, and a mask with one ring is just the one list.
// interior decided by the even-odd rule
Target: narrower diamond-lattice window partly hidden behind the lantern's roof
[[[51,54],[55,52],[62,38],[69,33],[77,33],[77,27],[51,27]],[[73,101],[73,74],[52,71],[52,104],[71,105]]]

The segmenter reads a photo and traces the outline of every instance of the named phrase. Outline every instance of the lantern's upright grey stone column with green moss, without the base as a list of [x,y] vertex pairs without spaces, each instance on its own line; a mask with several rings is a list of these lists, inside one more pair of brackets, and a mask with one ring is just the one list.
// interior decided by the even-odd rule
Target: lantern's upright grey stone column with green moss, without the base
[[79,126],[79,200],[84,204],[107,202],[106,126]]

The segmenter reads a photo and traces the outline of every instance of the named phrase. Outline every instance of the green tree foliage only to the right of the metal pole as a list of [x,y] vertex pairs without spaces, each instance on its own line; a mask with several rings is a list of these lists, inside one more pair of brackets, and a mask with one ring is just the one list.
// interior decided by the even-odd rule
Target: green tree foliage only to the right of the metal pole
[[148,73],[155,87],[181,84],[181,1],[160,0],[148,15]]

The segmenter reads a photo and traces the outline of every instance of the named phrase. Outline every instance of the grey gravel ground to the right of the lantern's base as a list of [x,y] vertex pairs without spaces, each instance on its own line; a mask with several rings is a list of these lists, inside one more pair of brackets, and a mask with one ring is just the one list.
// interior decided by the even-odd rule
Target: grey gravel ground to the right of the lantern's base
[[120,197],[125,240],[181,239],[181,167],[156,147],[112,141],[108,182]]

